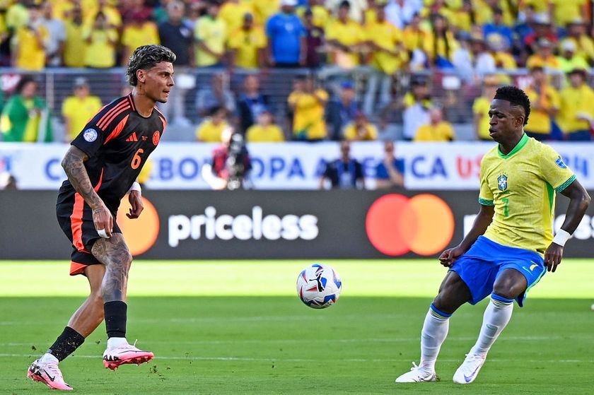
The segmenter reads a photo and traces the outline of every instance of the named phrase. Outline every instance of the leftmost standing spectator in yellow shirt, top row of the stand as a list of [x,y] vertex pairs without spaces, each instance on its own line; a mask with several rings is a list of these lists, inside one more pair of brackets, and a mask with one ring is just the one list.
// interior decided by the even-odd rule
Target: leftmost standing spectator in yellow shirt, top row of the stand
[[16,30],[13,65],[20,69],[39,71],[45,67],[45,49],[50,32],[42,24],[40,6],[29,7],[29,22]]

